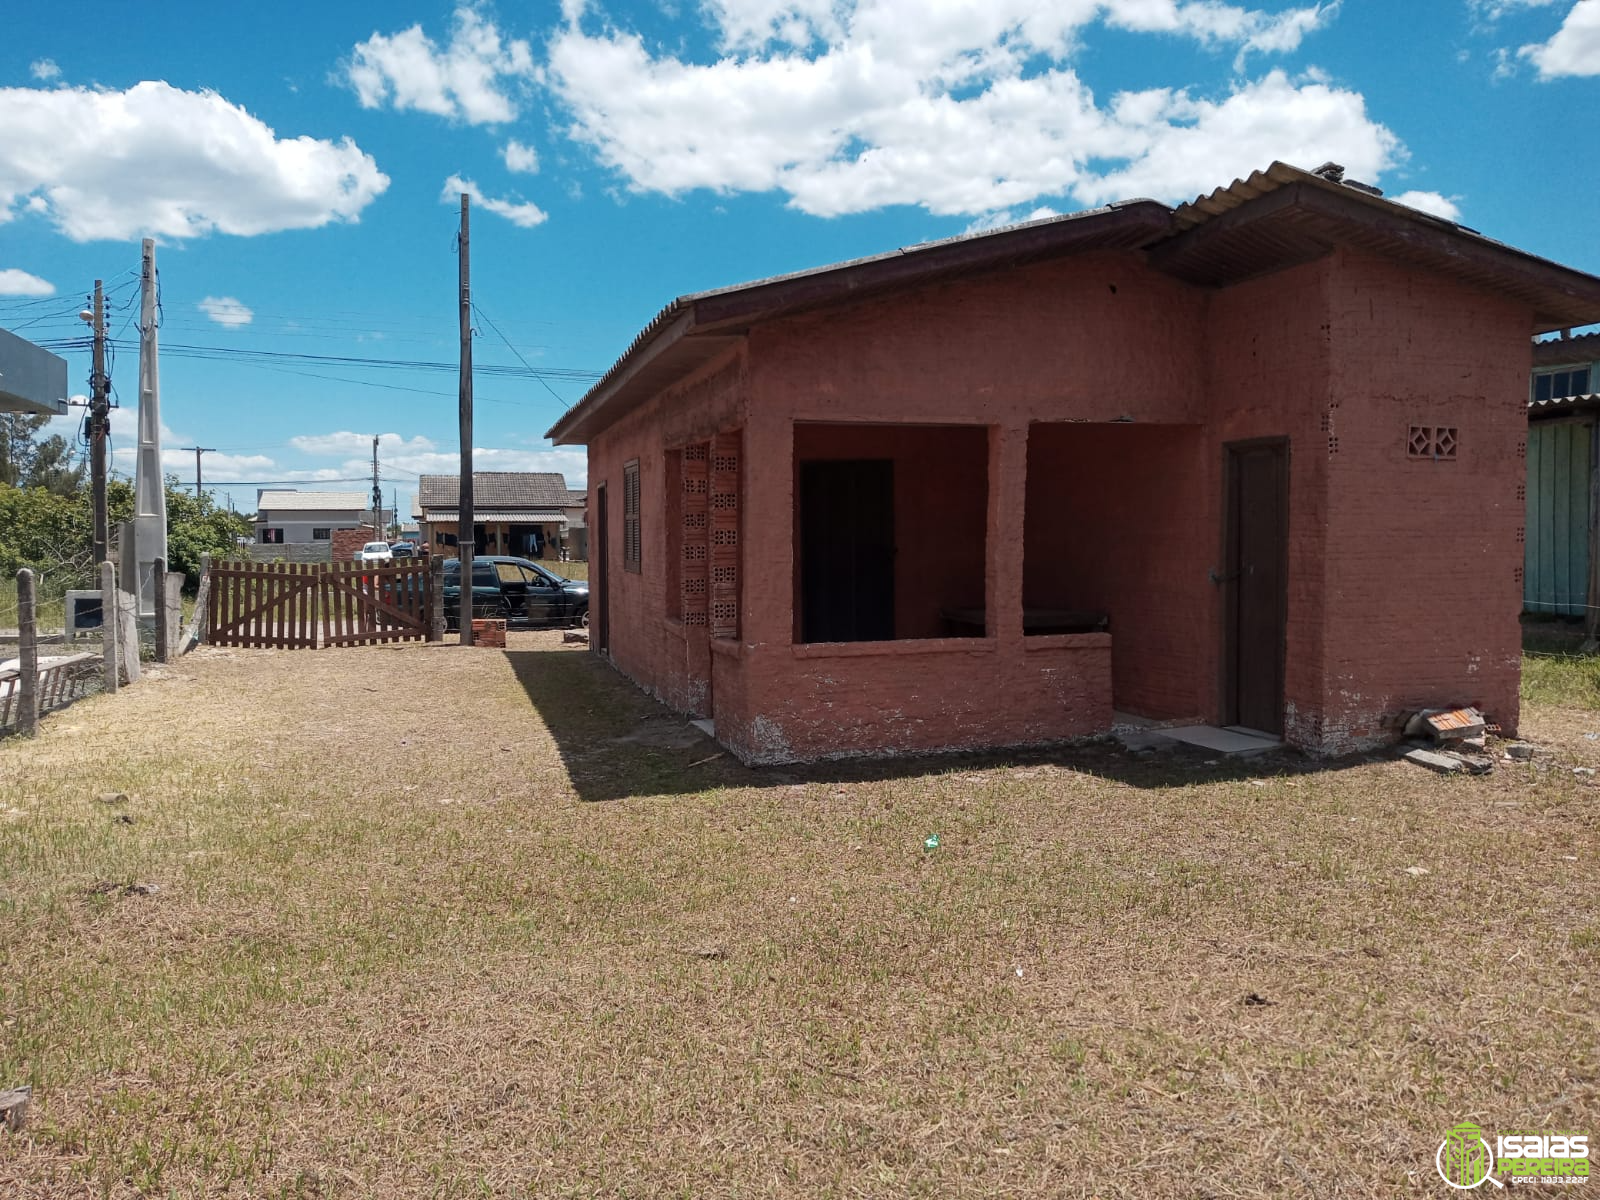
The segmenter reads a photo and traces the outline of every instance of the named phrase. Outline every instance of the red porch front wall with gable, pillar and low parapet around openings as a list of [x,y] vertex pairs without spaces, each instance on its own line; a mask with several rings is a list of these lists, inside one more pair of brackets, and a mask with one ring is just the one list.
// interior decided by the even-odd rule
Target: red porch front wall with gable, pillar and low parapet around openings
[[[1200,293],[1136,256],[1086,254],[752,330],[744,691],[734,712],[718,682],[718,739],[787,762],[1109,728],[1112,638],[1022,638],[1027,427],[1197,421],[1203,312]],[[794,645],[797,421],[987,426],[987,638]]]

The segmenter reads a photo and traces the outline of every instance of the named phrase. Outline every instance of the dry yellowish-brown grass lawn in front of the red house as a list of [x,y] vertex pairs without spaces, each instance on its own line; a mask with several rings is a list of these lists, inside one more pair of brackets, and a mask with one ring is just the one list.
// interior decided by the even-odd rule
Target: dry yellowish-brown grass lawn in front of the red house
[[0,1195],[1443,1195],[1600,1134],[1600,714],[1525,733],[749,771],[555,634],[202,650],[0,742]]

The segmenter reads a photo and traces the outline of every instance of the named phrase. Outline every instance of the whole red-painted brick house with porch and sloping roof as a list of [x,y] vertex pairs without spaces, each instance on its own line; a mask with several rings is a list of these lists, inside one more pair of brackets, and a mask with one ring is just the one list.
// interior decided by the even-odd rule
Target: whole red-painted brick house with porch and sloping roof
[[1514,730],[1530,339],[1595,320],[1600,278],[1282,163],[683,296],[550,430],[594,645],[749,762]]

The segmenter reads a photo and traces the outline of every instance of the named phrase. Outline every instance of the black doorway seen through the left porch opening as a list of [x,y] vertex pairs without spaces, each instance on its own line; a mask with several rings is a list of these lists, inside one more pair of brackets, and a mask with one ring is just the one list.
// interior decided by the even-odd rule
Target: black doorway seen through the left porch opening
[[800,464],[800,640],[894,637],[894,462]]

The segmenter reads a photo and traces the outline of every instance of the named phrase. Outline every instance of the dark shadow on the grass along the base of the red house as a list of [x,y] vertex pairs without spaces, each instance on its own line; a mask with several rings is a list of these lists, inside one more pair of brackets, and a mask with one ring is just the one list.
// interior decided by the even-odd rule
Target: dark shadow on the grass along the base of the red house
[[1282,750],[1251,758],[1222,758],[1187,746],[1133,754],[1106,738],[1037,749],[746,766],[690,725],[686,717],[642,693],[597,654],[509,650],[506,658],[555,738],[578,797],[589,802],[693,795],[720,787],[918,779],[1038,765],[1094,774],[1131,787],[1184,787],[1317,774],[1389,757],[1307,758],[1294,750]]

